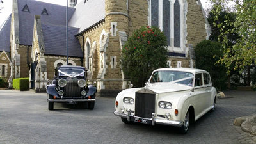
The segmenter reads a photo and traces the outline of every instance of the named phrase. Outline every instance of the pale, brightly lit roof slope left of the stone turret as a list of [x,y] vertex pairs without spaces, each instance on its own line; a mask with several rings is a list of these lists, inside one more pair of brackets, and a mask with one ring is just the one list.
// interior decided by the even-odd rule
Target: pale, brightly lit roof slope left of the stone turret
[[78,33],[105,18],[105,0],[81,1],[75,8],[68,26],[80,28]]

